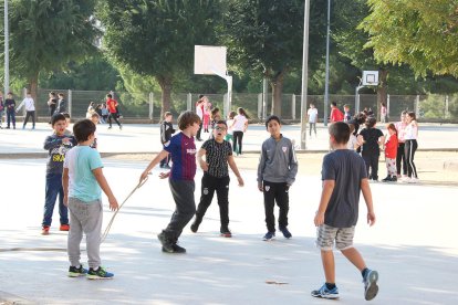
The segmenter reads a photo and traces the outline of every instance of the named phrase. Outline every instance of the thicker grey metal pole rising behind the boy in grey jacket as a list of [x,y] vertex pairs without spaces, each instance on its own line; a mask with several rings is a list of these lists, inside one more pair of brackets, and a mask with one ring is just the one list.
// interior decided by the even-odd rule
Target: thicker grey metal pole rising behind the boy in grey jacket
[[302,44],[301,149],[306,148],[306,90],[309,85],[309,19],[310,0],[304,3],[304,38]]

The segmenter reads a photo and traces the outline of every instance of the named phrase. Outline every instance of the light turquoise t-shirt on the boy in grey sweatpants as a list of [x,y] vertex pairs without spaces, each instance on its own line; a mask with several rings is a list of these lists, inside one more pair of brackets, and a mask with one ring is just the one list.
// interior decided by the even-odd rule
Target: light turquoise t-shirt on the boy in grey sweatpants
[[84,202],[102,198],[102,189],[94,169],[103,167],[101,155],[89,146],[76,146],[66,154],[64,168],[69,169],[69,197]]

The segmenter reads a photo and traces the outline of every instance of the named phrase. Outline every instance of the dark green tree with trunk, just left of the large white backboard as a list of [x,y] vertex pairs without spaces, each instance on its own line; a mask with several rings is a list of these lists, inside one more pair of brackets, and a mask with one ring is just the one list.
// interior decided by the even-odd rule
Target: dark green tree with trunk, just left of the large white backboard
[[194,45],[215,44],[221,7],[220,0],[101,1],[104,50],[122,69],[156,78],[163,115],[170,109],[174,82],[192,74]]

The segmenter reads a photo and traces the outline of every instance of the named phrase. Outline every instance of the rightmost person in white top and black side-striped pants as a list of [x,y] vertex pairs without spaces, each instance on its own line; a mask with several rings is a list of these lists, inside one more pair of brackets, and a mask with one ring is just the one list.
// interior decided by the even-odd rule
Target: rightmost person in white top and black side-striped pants
[[417,123],[417,117],[415,115],[415,113],[410,112],[407,113],[406,116],[406,129],[405,129],[405,135],[404,135],[404,139],[405,139],[405,148],[404,148],[404,152],[405,152],[405,157],[406,157],[406,162],[407,162],[407,176],[405,181],[409,182],[409,183],[416,183],[418,182],[418,175],[417,175],[417,168],[414,164],[414,157],[415,157],[415,151],[418,148],[418,144],[417,144],[417,137],[418,137],[418,123]]

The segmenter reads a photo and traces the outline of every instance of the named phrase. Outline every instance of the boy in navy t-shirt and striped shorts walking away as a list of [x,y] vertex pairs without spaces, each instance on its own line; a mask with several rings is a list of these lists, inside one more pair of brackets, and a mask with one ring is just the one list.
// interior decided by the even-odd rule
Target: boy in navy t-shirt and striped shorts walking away
[[314,218],[314,223],[318,227],[316,245],[321,249],[326,282],[321,288],[312,291],[312,296],[339,298],[332,252],[335,241],[335,246],[361,271],[364,282],[364,297],[369,301],[378,292],[378,273],[367,269],[360,252],[353,248],[361,191],[367,206],[367,223],[369,225],[375,223],[367,172],[364,160],[355,151],[346,148],[346,141],[350,137],[348,125],[334,123],[329,130],[333,151],[323,158],[323,189],[320,207]]

